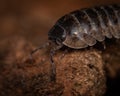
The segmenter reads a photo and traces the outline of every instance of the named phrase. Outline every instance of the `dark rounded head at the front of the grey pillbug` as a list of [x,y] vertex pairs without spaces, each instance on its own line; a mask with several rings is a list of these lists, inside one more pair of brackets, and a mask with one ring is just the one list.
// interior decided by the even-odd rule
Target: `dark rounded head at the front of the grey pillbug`
[[62,44],[66,38],[66,31],[62,26],[56,24],[48,33],[48,39],[54,42],[55,44]]

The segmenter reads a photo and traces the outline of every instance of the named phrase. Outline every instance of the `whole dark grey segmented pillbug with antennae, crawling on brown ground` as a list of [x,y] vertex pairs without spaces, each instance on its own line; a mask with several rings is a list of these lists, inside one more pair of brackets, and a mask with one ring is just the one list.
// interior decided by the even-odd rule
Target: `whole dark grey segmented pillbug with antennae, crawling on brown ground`
[[52,74],[55,80],[56,68],[53,55],[63,45],[81,49],[103,42],[105,38],[120,38],[120,5],[106,5],[73,11],[61,17],[48,33],[49,42],[33,50],[54,44],[50,51]]

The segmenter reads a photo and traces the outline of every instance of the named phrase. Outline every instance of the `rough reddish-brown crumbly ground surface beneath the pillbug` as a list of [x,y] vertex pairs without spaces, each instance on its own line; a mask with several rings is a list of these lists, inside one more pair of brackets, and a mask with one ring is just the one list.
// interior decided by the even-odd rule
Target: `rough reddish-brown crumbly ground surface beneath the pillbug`
[[50,81],[49,49],[33,55],[32,46],[22,38],[5,44],[9,49],[0,70],[0,95],[13,96],[102,96],[106,88],[101,52],[95,50],[59,51],[54,56],[56,82]]

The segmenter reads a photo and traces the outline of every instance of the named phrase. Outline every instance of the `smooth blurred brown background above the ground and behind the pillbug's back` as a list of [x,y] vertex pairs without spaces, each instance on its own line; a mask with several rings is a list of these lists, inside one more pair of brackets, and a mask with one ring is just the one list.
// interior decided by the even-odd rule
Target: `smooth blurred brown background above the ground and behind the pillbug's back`
[[66,13],[113,3],[120,0],[0,0],[0,40],[21,36],[40,45],[47,40],[54,23]]

